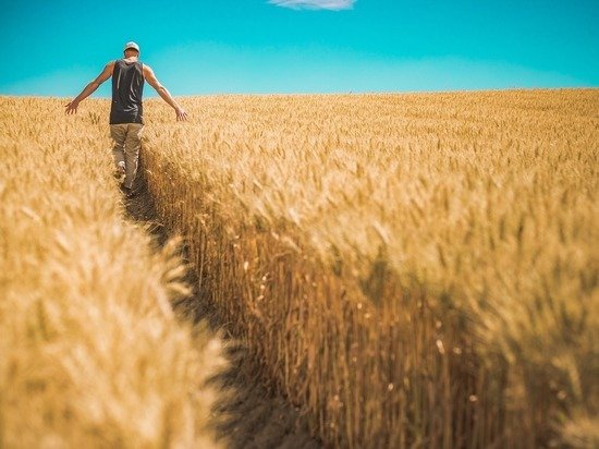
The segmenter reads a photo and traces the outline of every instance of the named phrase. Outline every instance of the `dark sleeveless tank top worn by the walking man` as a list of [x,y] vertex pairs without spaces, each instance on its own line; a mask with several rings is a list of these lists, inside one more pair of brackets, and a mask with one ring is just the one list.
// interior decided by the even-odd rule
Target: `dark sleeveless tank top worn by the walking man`
[[144,65],[139,62],[126,62],[119,59],[112,71],[112,105],[110,124],[144,124]]

